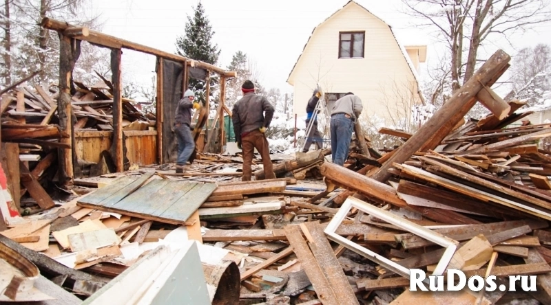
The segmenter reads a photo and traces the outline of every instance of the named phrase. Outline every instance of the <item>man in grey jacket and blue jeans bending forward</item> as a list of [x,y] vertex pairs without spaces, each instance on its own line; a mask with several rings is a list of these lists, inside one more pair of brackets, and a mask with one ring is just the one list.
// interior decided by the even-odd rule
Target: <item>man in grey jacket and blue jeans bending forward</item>
[[349,157],[352,131],[363,108],[362,100],[352,92],[346,93],[335,102],[331,112],[331,159],[333,163],[344,166],[344,161]]

